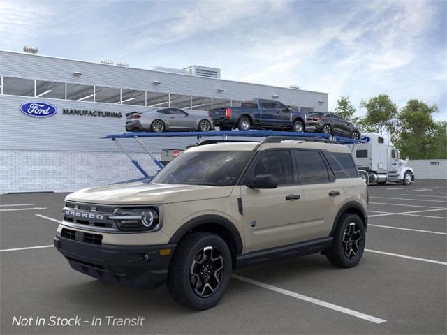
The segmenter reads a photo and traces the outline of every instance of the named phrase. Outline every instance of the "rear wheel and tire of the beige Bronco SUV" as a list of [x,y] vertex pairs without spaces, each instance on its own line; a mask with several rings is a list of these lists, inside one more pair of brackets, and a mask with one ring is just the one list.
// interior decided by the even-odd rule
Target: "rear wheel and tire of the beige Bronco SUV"
[[334,241],[326,258],[337,267],[355,267],[365,248],[365,227],[362,220],[356,214],[343,214],[333,237]]

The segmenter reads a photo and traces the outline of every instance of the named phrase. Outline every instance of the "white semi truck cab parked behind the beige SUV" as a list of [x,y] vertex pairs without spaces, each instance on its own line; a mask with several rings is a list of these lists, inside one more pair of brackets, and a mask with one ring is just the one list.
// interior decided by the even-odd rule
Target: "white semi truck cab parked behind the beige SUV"
[[360,176],[367,184],[387,181],[409,185],[414,181],[413,169],[406,166],[409,158],[400,159],[399,151],[388,137],[379,133],[363,133],[358,143],[351,144]]

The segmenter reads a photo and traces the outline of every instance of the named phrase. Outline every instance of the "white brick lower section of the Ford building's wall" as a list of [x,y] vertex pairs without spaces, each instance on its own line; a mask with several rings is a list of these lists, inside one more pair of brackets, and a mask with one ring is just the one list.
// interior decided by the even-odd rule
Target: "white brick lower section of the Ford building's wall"
[[[133,157],[149,174],[156,172],[146,154]],[[8,193],[75,191],[142,174],[119,152],[0,150],[0,176],[0,193]]]

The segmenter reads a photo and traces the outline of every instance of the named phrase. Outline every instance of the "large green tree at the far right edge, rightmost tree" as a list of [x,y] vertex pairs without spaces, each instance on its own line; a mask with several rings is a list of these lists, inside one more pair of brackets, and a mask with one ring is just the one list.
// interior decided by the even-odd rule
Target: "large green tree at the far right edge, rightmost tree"
[[412,159],[447,158],[446,122],[436,122],[429,106],[417,99],[409,100],[397,117],[397,147],[402,157]]

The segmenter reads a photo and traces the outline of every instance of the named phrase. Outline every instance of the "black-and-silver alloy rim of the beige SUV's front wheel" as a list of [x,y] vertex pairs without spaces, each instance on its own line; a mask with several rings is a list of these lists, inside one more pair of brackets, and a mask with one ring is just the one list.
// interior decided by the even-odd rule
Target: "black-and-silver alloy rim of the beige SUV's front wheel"
[[194,293],[201,298],[210,297],[223,277],[223,257],[215,246],[205,246],[194,257],[190,283]]

